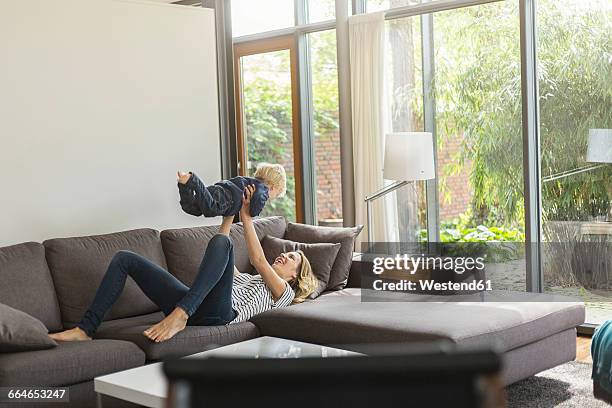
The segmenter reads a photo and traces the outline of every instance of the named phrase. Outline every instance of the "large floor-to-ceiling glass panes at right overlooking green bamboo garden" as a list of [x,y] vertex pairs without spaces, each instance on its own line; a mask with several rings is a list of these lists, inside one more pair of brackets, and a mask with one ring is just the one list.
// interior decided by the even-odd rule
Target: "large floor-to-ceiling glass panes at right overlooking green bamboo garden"
[[[367,10],[418,3],[368,0]],[[420,209],[420,216],[410,215],[421,239],[506,242],[512,253],[488,268],[498,287],[526,290],[528,279],[541,277],[544,291],[582,298],[587,321],[599,323],[612,318],[612,3],[536,0],[535,18],[524,13],[521,22],[520,7],[528,3],[387,21],[390,126],[431,131],[437,139],[437,179],[428,183],[435,194],[421,187],[412,207],[397,208]],[[521,24],[538,40],[532,71],[521,72],[528,64]],[[528,41],[523,46],[524,55],[534,50]],[[537,80],[529,118],[522,104],[532,89],[522,75]],[[524,134],[526,121],[535,133]],[[540,149],[529,169],[527,146]],[[537,194],[525,202],[534,171],[540,179],[531,191],[541,194],[541,204]],[[533,268],[522,252],[526,208],[538,220],[528,245],[541,265]]]

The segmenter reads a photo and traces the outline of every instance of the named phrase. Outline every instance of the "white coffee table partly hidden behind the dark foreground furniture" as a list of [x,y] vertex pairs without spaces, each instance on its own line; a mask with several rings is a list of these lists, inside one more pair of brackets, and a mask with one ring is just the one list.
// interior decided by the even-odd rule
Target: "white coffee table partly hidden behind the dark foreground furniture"
[[[359,353],[278,337],[258,337],[185,358],[203,358],[212,355],[251,358],[301,358],[345,357],[359,355]],[[94,389],[98,396],[103,394],[145,407],[163,408],[165,407],[168,383],[162,372],[162,363],[153,363],[97,377],[94,379]],[[100,401],[100,398],[98,400]]]

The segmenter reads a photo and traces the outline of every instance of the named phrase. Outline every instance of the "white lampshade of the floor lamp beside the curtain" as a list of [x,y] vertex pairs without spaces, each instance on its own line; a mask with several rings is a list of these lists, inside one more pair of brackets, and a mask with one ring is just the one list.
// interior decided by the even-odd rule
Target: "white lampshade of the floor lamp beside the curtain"
[[396,181],[435,178],[433,137],[428,132],[390,133],[385,141],[384,178]]

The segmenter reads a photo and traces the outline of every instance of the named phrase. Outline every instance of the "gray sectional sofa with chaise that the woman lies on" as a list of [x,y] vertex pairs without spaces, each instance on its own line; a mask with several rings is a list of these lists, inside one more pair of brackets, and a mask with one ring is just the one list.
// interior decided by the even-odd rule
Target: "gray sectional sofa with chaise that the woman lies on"
[[[283,237],[286,230],[281,217],[258,219],[255,226],[260,239]],[[87,308],[116,251],[146,256],[189,284],[216,231],[208,226],[161,233],[140,229],[0,248],[0,303],[36,317],[50,331],[70,328]],[[241,225],[232,227],[231,237],[237,268],[252,271]],[[93,341],[0,353],[0,387],[69,386],[70,406],[93,406],[96,376],[262,335],[355,350],[372,343],[432,340],[494,346],[504,353],[507,384],[575,357],[575,328],[584,322],[579,302],[543,302],[545,295],[530,294],[520,303],[361,302],[360,289],[350,287],[358,285],[357,271],[351,268],[345,289],[271,310],[249,322],[187,327],[163,343],[142,335],[162,313],[128,280]],[[529,296],[538,296],[538,301],[527,302]]]

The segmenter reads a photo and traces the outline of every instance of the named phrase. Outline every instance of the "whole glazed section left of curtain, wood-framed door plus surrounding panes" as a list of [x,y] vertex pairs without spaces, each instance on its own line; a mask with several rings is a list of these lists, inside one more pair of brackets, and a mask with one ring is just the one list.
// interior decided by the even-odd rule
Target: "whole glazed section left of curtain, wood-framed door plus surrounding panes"
[[[234,37],[262,37],[234,41],[240,173],[252,174],[261,161],[283,164],[287,197],[271,202],[263,215],[341,225],[335,30],[263,34],[293,27],[296,5],[306,11],[305,23],[335,18],[335,0],[232,1]],[[304,144],[311,149],[303,149]],[[311,151],[314,166],[306,168],[302,163]],[[303,180],[313,183],[305,185]]]

